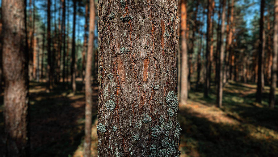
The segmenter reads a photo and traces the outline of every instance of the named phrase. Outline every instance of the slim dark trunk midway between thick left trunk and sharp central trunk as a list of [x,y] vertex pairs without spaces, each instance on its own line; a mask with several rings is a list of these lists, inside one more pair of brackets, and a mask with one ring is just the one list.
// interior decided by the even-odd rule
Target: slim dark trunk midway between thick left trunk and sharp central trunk
[[62,2],[62,34],[63,34],[63,84],[65,84],[65,0],[61,0]]

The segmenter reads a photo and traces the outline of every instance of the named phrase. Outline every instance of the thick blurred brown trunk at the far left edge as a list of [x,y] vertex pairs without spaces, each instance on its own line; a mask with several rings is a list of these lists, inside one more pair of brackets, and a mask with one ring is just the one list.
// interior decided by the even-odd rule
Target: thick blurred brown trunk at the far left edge
[[2,0],[3,72],[5,78],[4,156],[30,156],[28,116],[28,41],[26,1]]

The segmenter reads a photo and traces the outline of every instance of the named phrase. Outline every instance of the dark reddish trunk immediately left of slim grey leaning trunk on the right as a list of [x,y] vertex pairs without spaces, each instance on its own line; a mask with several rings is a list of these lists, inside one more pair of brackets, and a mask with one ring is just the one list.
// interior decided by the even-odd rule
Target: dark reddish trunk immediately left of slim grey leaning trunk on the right
[[207,11],[207,46],[206,46],[206,78],[204,84],[204,97],[207,98],[210,87],[210,70],[211,70],[211,38],[212,38],[212,22],[211,16],[213,11],[213,0],[208,0]]

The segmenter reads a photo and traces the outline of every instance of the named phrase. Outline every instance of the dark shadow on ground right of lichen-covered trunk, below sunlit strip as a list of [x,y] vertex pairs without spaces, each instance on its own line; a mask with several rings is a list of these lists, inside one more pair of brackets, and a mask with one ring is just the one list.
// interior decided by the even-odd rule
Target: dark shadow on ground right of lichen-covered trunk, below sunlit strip
[[278,141],[254,135],[245,124],[215,123],[190,108],[181,108],[181,151],[189,156],[276,156]]

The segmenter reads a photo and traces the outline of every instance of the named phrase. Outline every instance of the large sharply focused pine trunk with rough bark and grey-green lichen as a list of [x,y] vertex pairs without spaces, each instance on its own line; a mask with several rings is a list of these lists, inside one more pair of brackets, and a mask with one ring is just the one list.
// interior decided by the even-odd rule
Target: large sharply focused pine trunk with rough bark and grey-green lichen
[[177,0],[99,0],[99,156],[179,155]]

